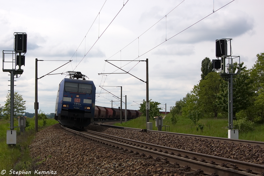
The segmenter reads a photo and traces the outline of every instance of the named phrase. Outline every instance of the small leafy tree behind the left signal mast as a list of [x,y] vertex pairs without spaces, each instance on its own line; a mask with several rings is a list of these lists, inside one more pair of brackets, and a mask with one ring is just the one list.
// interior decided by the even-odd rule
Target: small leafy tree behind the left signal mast
[[[6,104],[4,105],[3,112],[5,116],[10,115],[10,92],[7,93],[6,96]],[[14,92],[14,112],[13,117],[20,116],[25,113],[26,106],[24,106],[26,101],[23,100],[22,95],[18,94],[18,92]]]

